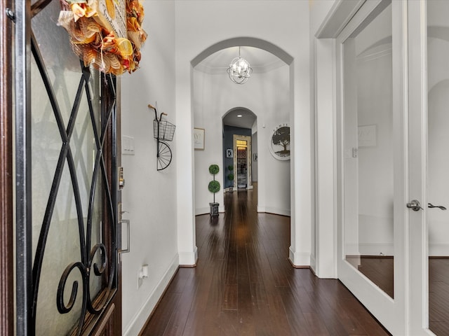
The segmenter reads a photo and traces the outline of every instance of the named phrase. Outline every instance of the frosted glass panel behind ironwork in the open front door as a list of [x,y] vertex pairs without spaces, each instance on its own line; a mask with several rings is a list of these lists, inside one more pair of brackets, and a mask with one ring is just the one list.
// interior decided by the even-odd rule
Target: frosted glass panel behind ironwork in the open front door
[[51,1],[32,19],[30,328],[48,336],[91,332],[118,274],[114,168],[107,163],[114,80],[81,64],[55,24],[59,13],[59,1]]

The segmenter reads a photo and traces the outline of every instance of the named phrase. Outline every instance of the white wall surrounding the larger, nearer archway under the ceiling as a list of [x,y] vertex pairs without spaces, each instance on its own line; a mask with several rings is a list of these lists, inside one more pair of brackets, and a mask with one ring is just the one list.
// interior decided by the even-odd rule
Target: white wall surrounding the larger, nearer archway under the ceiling
[[[293,57],[290,64],[290,126],[292,138],[292,245],[295,265],[309,265],[311,255],[311,119],[309,99],[308,1],[177,1],[176,113],[183,130],[177,133],[178,248],[180,258],[196,262],[194,241],[194,192],[192,178],[192,66],[203,50],[230,38],[250,37],[268,41]],[[237,2],[236,2],[237,3]],[[232,14],[232,25],[229,15]],[[250,82],[248,82],[250,83]],[[246,83],[246,85],[248,84]],[[268,126],[267,126],[268,127]],[[262,139],[262,134],[259,134]],[[259,145],[261,142],[259,143]],[[262,178],[262,165],[259,179]],[[263,191],[263,190],[260,190]]]

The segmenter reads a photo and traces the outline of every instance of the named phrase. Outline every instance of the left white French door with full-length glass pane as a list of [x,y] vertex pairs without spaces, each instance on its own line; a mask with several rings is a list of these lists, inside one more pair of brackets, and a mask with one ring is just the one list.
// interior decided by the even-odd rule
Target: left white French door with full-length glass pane
[[338,276],[406,335],[406,1],[366,1],[336,40]]

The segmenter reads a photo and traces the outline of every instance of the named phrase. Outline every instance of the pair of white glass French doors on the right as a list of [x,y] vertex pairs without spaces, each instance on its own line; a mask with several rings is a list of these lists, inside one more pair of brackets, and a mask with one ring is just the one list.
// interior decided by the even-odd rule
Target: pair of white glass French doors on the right
[[393,335],[449,335],[449,1],[366,1],[336,41],[338,276]]

